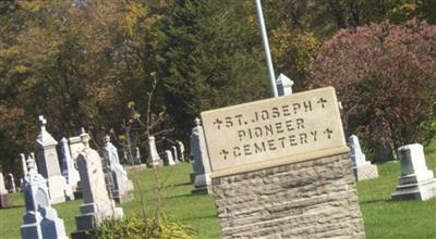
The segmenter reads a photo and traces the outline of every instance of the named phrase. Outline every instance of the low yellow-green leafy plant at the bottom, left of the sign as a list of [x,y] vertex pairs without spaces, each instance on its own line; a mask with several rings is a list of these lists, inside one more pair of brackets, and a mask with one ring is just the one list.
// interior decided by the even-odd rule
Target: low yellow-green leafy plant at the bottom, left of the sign
[[193,238],[196,231],[179,222],[162,215],[156,217],[143,217],[131,214],[122,219],[108,219],[102,222],[96,231],[96,236],[102,239],[140,239],[140,238]]

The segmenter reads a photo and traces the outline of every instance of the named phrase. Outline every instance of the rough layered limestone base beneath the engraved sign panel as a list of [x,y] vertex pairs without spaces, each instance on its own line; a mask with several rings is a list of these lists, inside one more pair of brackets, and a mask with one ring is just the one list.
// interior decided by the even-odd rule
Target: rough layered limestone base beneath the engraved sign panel
[[222,238],[365,238],[350,154],[213,178]]

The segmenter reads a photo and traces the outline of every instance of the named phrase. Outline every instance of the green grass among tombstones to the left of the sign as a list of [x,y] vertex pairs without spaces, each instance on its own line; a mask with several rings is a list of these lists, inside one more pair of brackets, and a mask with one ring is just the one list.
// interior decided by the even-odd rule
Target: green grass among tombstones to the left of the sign
[[[157,171],[158,179],[165,181],[166,188],[161,193],[161,207],[164,213],[175,218],[183,225],[191,226],[197,230],[196,238],[220,238],[219,222],[217,218],[215,204],[211,196],[192,194],[194,187],[190,184],[190,173],[192,166],[189,163],[181,163],[171,167],[162,167]],[[147,215],[154,215],[156,212],[156,186],[157,177],[154,169],[141,172],[130,172],[135,191],[134,200],[121,204],[124,215],[135,213],[142,214],[141,189],[144,191],[144,205]],[[141,186],[138,186],[141,183]],[[23,214],[25,213],[24,200],[21,192],[12,196],[13,207],[0,210],[0,239],[20,238],[20,227],[23,224]],[[75,230],[74,217],[78,215],[82,199],[56,204],[53,207],[58,211],[65,224],[66,234]],[[118,205],[120,206],[120,205]]]

